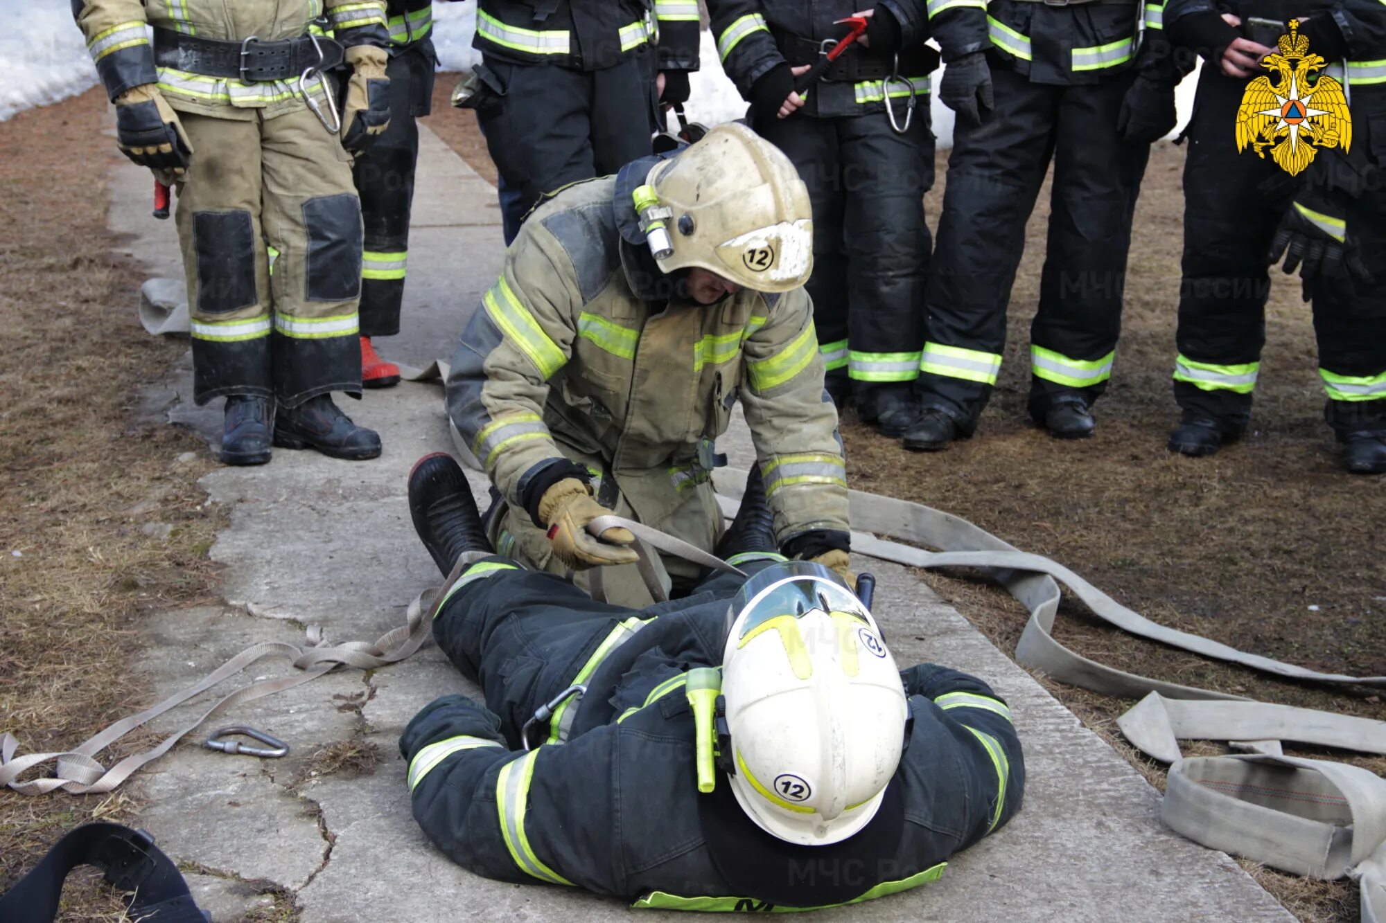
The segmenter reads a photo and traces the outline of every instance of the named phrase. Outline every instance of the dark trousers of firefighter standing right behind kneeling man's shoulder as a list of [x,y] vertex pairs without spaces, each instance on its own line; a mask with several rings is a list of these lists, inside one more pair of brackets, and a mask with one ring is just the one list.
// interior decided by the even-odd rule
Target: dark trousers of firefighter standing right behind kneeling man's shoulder
[[[651,152],[658,116],[653,50],[602,71],[484,60],[505,96],[477,118],[521,215],[545,193],[615,173]],[[507,245],[517,233],[506,222]]]

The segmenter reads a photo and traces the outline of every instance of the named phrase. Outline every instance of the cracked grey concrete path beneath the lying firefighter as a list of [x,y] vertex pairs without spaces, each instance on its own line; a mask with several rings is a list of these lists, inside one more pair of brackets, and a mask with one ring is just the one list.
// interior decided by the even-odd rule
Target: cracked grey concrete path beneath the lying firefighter
[[[383,344],[388,356],[417,364],[450,353],[502,259],[495,190],[431,132],[421,134],[405,333]],[[172,222],[150,220],[148,195],[148,175],[121,168],[112,227],[132,234],[129,249],[151,273],[177,276]],[[148,412],[215,441],[220,412],[193,407],[190,391],[184,360],[147,395]],[[212,547],[226,568],[226,601],[150,619],[139,667],[155,692],[193,682],[251,643],[299,640],[309,624],[331,640],[374,640],[437,579],[410,527],[405,478],[420,455],[450,448],[441,391],[406,383],[348,403],[355,419],[380,430],[381,459],[353,464],[279,450],[266,467],[220,468],[202,480],[212,502],[231,510]],[[732,464],[751,460],[744,425],[722,448]],[[481,498],[482,480],[473,478]],[[956,856],[938,883],[815,919],[1293,919],[1224,854],[1164,829],[1157,793],[923,583],[895,565],[872,570],[901,664],[958,667],[987,678],[1010,703],[1028,787],[1021,814]],[[288,669],[263,661],[247,679]],[[256,888],[266,886],[291,894],[306,923],[625,919],[618,902],[478,879],[424,840],[409,814],[398,736],[420,707],[452,692],[475,690],[427,647],[387,669],[334,674],[243,705],[213,726],[262,728],[290,741],[292,754],[259,761],[184,743],[143,773],[144,826],[198,870],[194,888],[216,920],[251,913],[266,899]],[[348,740],[380,748],[373,772],[309,775],[315,753]]]

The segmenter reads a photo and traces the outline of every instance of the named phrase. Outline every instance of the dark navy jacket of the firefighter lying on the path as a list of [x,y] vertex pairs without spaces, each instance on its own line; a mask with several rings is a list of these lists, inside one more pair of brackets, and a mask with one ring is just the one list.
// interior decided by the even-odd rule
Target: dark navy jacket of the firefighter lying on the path
[[[473,610],[468,619],[478,607],[532,607],[556,579],[492,574],[464,586],[460,604]],[[426,707],[399,746],[428,838],[466,869],[503,881],[575,886],[638,908],[769,911],[931,881],[949,855],[1019,811],[1024,761],[1009,710],[980,679],[933,664],[901,674],[908,740],[886,801],[861,833],[796,847],[757,827],[721,773],[712,793],[699,794],[685,671],[721,664],[726,604],[704,592],[614,629],[602,619],[575,638],[579,662],[593,653],[565,743],[521,753],[514,725],[524,714],[500,718],[464,696]],[[439,638],[445,647],[453,640]],[[523,667],[511,674],[534,682]]]

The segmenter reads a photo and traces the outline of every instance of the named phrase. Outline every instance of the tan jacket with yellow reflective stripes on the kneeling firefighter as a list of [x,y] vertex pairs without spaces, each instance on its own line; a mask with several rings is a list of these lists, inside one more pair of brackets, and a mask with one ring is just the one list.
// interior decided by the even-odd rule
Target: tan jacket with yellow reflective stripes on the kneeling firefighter
[[647,248],[626,243],[643,233],[615,188],[615,177],[589,180],[541,205],[462,335],[448,412],[486,474],[531,517],[552,466],[610,478],[642,522],[694,496],[715,510],[712,442],[739,399],[778,540],[845,532],[837,413],[808,295],[681,298]]

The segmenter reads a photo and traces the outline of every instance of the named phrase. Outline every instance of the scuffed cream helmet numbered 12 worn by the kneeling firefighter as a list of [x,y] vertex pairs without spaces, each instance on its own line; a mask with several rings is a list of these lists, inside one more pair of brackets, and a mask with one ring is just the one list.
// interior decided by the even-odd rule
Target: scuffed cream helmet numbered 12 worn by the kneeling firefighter
[[808,188],[789,158],[744,125],[718,125],[657,164],[646,183],[669,209],[672,249],[657,255],[661,272],[701,266],[751,291],[790,291],[808,280]]

